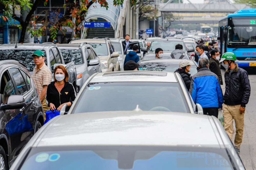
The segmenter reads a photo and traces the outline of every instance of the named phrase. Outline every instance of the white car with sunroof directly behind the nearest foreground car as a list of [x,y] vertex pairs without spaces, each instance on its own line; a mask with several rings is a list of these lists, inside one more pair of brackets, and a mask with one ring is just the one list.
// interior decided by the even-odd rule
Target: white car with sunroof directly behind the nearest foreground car
[[[113,102],[117,98],[122,100]],[[65,111],[65,106],[62,108]],[[68,114],[134,109],[203,113],[202,107],[193,102],[178,73],[118,71],[91,76],[84,83]]]

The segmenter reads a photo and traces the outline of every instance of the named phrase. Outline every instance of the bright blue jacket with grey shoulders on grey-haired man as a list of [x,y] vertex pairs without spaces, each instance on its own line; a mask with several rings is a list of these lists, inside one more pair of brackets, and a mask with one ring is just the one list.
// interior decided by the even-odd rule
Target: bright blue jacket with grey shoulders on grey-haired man
[[189,93],[193,101],[202,108],[222,107],[223,94],[219,78],[208,68],[200,68],[192,77]]

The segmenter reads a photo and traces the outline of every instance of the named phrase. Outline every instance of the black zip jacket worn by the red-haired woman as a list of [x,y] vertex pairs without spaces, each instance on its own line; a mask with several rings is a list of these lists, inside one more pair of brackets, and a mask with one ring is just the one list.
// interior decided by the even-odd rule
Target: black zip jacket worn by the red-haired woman
[[[69,82],[65,82],[64,87],[61,89],[60,93],[54,85],[54,81],[52,81],[47,86],[46,90],[46,104],[50,106],[50,103],[54,104],[56,108],[58,108],[61,104],[71,102],[76,98],[76,91],[73,85]],[[70,106],[68,107],[69,110]]]

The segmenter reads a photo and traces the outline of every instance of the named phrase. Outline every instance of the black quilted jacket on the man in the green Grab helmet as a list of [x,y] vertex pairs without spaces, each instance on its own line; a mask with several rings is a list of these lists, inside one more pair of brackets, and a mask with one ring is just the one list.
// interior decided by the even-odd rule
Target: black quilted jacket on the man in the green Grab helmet
[[242,107],[245,107],[249,102],[251,94],[251,86],[247,71],[239,68],[236,64],[230,77],[229,70],[226,70],[225,83],[226,91],[223,97],[224,103],[231,106],[241,104]]

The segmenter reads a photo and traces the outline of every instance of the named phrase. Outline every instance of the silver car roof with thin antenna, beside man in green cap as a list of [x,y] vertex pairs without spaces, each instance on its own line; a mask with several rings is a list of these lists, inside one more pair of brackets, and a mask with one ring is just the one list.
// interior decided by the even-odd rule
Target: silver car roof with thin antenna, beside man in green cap
[[56,46],[52,43],[42,43],[42,44],[35,44],[35,43],[17,43],[17,48],[15,48],[16,44],[1,44],[0,50],[2,48],[8,48],[10,50],[20,50],[20,49],[36,49],[36,50],[43,50],[45,47]]

